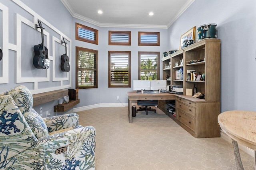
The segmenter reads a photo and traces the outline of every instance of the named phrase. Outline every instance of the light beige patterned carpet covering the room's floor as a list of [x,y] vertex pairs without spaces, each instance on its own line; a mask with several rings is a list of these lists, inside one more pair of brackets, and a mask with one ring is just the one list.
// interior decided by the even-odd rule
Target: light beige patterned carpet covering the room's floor
[[[137,107],[138,108],[138,107]],[[96,128],[96,170],[235,170],[232,144],[222,138],[196,139],[157,108],[99,107],[78,112],[80,125]],[[245,170],[254,158],[240,150]]]

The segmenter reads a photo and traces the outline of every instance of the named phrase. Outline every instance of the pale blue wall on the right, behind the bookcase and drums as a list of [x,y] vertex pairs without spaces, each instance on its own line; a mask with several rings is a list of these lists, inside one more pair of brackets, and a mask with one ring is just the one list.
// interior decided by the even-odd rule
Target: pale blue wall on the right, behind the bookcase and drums
[[256,1],[196,0],[168,28],[168,49],[180,35],[207,23],[218,25],[221,39],[221,112],[256,111]]

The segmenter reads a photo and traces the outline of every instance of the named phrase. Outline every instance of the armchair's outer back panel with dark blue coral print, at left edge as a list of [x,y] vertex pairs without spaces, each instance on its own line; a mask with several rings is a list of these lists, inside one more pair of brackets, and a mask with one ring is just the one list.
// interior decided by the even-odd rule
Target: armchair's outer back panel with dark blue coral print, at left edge
[[11,95],[0,97],[0,163],[36,145],[37,139]]

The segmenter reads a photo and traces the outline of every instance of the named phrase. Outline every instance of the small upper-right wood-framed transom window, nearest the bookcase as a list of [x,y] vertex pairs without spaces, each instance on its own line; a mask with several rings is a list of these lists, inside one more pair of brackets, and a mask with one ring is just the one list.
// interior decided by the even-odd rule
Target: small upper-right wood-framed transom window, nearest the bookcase
[[138,45],[160,46],[160,32],[138,32]]

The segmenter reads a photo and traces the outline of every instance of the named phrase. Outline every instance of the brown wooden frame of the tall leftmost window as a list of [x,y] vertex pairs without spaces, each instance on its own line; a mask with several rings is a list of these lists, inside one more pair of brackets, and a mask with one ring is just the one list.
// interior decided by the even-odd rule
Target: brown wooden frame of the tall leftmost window
[[[95,64],[96,64],[96,74],[95,74],[95,85],[94,86],[84,86],[84,87],[79,87],[78,85],[78,70],[79,70],[79,67],[78,67],[78,56],[79,56],[79,51],[88,51],[88,52],[91,52],[91,53],[95,53],[96,56],[95,56]],[[76,88],[78,89],[88,89],[88,88],[98,88],[98,51],[97,50],[93,50],[93,49],[86,49],[86,48],[83,48],[83,47],[77,47],[76,46]]]

